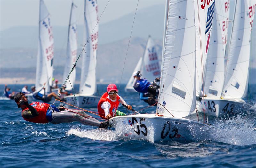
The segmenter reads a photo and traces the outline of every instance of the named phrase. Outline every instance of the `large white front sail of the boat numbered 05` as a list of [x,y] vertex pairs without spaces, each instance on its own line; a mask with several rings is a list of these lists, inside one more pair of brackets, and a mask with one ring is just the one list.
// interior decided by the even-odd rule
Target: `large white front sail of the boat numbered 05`
[[[164,54],[157,112],[185,117],[194,111],[195,95],[195,21],[194,1],[171,0],[168,5]],[[164,31],[165,32],[165,31]],[[168,110],[166,110],[166,109]]]

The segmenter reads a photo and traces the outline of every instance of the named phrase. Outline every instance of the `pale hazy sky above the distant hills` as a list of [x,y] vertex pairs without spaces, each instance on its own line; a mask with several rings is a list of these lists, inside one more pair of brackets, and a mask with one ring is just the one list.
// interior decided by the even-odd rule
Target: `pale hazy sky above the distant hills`
[[[68,25],[71,0],[44,0],[51,14],[53,25]],[[74,0],[78,7],[78,24],[83,24],[84,0]],[[98,0],[99,16],[108,0]],[[139,0],[138,9],[156,4],[165,4],[165,0]],[[136,9],[137,0],[110,0],[100,19],[100,23],[115,20]],[[0,31],[14,26],[37,26],[39,18],[39,0],[0,0]]]

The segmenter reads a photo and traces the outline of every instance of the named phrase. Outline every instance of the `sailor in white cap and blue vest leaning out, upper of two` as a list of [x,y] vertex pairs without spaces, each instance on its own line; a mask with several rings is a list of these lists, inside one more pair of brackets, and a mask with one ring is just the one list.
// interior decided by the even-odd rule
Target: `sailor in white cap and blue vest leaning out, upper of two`
[[142,74],[140,71],[135,71],[133,73],[134,81],[132,83],[133,88],[139,92],[140,94],[140,100],[146,100],[146,98],[143,98],[143,93],[150,93],[154,96],[158,96],[159,94],[159,86],[156,84],[156,82],[159,82],[160,79],[156,78],[153,82],[149,82],[147,79],[141,79],[140,76]]

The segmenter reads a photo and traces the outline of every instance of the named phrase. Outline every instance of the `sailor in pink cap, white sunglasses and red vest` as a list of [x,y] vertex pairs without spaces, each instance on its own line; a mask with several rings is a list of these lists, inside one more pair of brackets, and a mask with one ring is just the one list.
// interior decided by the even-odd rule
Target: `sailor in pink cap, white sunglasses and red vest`
[[103,119],[110,119],[114,116],[125,116],[121,111],[118,111],[119,103],[128,106],[128,109],[131,110],[132,106],[128,105],[124,99],[119,96],[118,90],[115,84],[109,84],[107,87],[107,92],[105,92],[98,102],[98,113]]

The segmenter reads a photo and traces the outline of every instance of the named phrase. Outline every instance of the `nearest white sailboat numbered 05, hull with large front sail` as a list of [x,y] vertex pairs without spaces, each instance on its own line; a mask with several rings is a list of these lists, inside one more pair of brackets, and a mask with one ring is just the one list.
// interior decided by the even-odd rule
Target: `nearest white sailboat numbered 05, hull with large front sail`
[[[199,0],[166,2],[161,82],[156,114],[113,117],[109,123],[116,131],[150,142],[187,142],[195,140],[195,136],[201,136],[204,128],[208,129],[207,124],[183,117],[196,108],[195,17],[200,17],[200,20],[207,18],[208,12],[211,19],[214,3],[215,1],[210,1],[202,8]],[[210,24],[206,26],[206,21],[200,21],[204,25],[201,31],[205,33],[208,30],[201,38],[208,37],[211,31],[212,24],[208,22]]]

